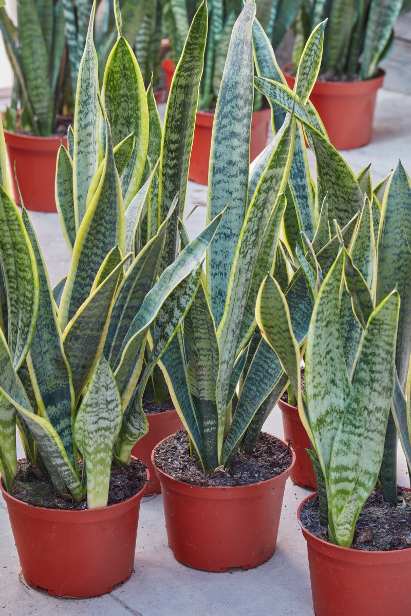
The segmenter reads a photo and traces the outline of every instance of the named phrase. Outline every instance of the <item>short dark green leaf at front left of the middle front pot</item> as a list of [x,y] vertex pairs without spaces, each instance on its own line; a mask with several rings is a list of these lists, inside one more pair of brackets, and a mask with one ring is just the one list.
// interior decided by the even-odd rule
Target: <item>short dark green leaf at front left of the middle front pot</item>
[[[198,413],[203,436],[203,464],[206,472],[214,471],[219,466],[217,439],[218,413],[216,383],[220,365],[220,350],[217,340],[213,315],[208,304],[205,289],[200,285],[184,320],[184,336],[189,348],[187,364],[187,381],[190,394]],[[244,361],[238,362],[244,367]],[[236,372],[237,386],[241,370]],[[234,371],[233,371],[234,372]],[[231,397],[234,391],[230,392]]]

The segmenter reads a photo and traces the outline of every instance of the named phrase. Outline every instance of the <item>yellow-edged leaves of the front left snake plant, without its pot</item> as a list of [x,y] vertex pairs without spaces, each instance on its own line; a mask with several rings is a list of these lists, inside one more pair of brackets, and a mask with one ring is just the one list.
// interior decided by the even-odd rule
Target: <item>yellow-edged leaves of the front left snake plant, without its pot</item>
[[[155,163],[139,188],[150,163],[147,152],[158,152],[152,89],[147,102],[119,20],[99,99],[94,9],[79,67],[74,130],[57,161],[56,199],[72,259],[54,289],[28,213],[22,206],[20,214],[0,187],[1,474],[10,490],[17,423],[31,464],[43,462],[56,492],[70,493],[73,501],[87,491],[88,508],[107,505],[112,457],[116,464],[129,463],[131,448],[148,431],[141,405],[134,404],[137,383],[140,389],[147,383],[187,313],[200,284],[201,257],[221,219],[216,216],[159,270],[177,200],[169,200],[163,221],[150,225],[152,235],[142,241],[145,204],[155,203],[149,198]],[[123,139],[121,131],[131,132]],[[127,205],[130,187],[135,194]],[[141,376],[148,336],[153,346]]]

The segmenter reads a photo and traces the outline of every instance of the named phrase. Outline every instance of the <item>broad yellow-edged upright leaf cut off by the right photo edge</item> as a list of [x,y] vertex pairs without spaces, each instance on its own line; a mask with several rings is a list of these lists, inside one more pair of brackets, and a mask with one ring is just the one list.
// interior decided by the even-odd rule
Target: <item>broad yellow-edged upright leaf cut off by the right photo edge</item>
[[404,391],[411,353],[411,187],[407,173],[397,164],[386,187],[378,233],[376,303],[396,288],[401,297],[396,368]]

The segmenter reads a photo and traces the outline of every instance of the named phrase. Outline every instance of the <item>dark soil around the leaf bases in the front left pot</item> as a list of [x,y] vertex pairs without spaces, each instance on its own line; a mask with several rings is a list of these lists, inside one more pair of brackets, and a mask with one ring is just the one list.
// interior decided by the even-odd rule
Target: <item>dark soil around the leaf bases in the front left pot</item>
[[[140,460],[131,460],[127,466],[112,466],[108,505],[116,505],[128,500],[140,492],[147,480],[145,464]],[[81,476],[81,461],[79,461]],[[26,459],[17,461],[17,475],[13,480],[12,496],[18,500],[47,509],[87,509],[87,495],[81,503],[73,503],[70,494],[56,494],[48,474],[26,463]]]

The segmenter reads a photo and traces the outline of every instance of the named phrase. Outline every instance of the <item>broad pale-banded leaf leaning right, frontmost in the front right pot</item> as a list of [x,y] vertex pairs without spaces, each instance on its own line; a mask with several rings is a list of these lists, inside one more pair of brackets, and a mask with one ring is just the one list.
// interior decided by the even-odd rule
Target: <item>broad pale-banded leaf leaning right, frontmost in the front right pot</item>
[[[357,517],[375,486],[383,459],[395,385],[394,349],[399,304],[399,294],[393,291],[368,320],[351,395],[332,445],[329,503],[338,545],[347,548],[351,546]],[[367,434],[366,439],[364,434]],[[354,488],[357,490],[356,508],[354,515],[346,517],[344,508]]]

